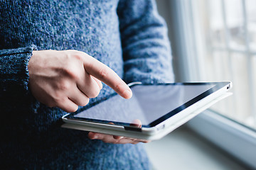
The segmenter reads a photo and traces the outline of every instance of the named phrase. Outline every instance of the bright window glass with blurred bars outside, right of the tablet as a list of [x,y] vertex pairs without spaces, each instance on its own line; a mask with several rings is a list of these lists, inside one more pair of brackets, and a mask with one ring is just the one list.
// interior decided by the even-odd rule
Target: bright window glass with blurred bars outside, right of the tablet
[[203,3],[206,8],[198,6],[206,45],[201,79],[230,80],[234,85],[233,97],[213,110],[256,129],[256,1]]

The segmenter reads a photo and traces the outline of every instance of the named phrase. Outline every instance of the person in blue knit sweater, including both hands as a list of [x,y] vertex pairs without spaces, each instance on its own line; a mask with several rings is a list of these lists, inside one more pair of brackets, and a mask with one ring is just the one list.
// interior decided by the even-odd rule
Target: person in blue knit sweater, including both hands
[[149,169],[141,143],[117,145],[138,141],[60,124],[114,91],[130,98],[125,83],[174,80],[155,2],[16,0],[0,8],[1,167]]

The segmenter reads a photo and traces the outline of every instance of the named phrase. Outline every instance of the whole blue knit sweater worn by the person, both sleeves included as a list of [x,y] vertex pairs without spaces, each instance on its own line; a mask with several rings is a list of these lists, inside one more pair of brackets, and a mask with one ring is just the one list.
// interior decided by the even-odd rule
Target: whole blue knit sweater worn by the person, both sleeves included
[[[33,50],[74,49],[127,83],[173,81],[153,0],[1,0],[0,23],[1,169],[149,169],[141,144],[106,144],[60,128],[65,112],[33,98],[27,66]],[[113,92],[104,84],[90,103]]]

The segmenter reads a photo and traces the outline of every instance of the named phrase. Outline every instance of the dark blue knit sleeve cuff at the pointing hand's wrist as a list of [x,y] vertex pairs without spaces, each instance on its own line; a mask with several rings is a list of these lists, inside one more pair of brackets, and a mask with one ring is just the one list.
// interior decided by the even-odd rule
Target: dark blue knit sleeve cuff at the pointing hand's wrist
[[[28,111],[33,96],[28,90],[28,61],[36,46],[0,50],[1,111]],[[35,102],[36,103],[36,102]],[[24,111],[20,109],[23,108]]]

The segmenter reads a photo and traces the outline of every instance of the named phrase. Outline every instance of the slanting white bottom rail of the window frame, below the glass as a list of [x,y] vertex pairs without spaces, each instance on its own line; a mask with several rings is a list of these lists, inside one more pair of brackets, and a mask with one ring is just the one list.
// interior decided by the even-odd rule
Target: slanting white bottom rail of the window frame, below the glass
[[230,155],[256,168],[256,132],[213,111],[206,110],[188,122],[189,128]]

